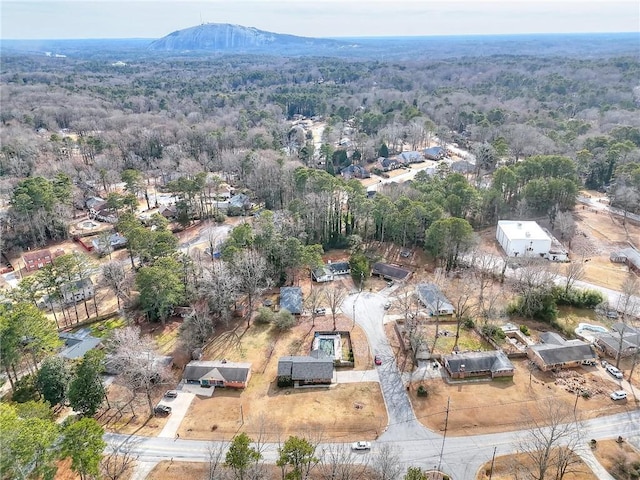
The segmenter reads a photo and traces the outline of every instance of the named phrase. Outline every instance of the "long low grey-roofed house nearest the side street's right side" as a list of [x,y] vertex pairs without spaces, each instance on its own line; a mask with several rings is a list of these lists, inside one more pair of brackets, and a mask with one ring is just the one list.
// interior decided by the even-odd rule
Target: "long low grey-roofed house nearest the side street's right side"
[[445,355],[443,360],[451,378],[513,377],[515,370],[501,350]]

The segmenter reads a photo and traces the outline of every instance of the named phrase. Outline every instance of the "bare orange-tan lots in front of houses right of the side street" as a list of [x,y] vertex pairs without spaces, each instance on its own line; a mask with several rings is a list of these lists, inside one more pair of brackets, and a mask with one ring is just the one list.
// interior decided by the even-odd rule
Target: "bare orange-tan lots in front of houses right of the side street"
[[[608,395],[615,389],[615,383],[596,367],[565,370],[558,375],[534,370],[529,383],[528,361],[512,360],[512,363],[515,366],[513,380],[502,378],[446,383],[437,379],[413,383],[410,398],[416,416],[428,428],[442,430],[447,399],[450,398],[450,435],[516,430],[522,428],[527,419],[540,419],[544,412],[540,412],[537,406],[543,399],[553,398],[555,402],[562,402],[573,410],[576,395],[571,392],[576,388],[593,392],[591,398],[578,398],[577,412],[583,419],[634,408],[632,399],[624,404],[611,401]],[[419,384],[428,389],[428,397],[417,396]]]

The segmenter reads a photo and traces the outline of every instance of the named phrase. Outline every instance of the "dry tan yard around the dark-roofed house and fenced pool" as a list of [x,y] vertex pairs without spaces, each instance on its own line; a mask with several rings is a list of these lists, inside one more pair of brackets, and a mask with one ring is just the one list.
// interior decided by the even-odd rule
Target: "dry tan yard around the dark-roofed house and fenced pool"
[[[336,326],[351,334],[355,368],[373,368],[364,333],[342,315],[338,315]],[[315,328],[309,318],[303,317],[289,332],[280,333],[265,325],[252,325],[246,330],[242,324],[220,335],[207,348],[205,358],[251,362],[249,386],[242,391],[216,389],[212,398],[196,397],[180,425],[180,437],[228,440],[238,431],[255,436],[262,430],[276,440],[311,429],[322,432],[326,440],[375,438],[387,424],[379,384],[304,389],[281,389],[276,385],[278,358],[308,354],[313,332],[332,329],[329,314],[318,317]]]

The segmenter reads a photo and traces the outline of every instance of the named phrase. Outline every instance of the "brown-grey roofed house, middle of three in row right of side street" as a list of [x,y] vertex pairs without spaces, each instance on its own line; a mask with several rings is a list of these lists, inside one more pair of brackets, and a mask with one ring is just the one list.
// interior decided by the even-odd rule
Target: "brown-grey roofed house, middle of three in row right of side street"
[[556,333],[545,332],[540,335],[540,341],[542,343],[529,345],[526,351],[529,359],[545,372],[578,367],[597,359],[591,345],[582,340],[565,340]]

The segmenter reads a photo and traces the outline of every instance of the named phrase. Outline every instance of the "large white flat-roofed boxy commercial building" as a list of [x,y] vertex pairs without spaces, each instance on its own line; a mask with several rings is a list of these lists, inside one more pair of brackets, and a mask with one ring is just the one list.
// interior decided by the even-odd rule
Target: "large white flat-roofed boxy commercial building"
[[500,220],[496,239],[509,257],[547,258],[551,237],[536,222]]

